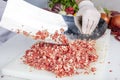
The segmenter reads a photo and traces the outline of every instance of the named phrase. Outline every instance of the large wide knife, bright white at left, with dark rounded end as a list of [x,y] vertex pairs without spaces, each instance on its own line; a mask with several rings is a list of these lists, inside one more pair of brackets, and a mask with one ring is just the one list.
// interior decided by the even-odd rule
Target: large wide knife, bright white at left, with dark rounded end
[[[75,26],[73,16],[46,11],[24,0],[8,1],[1,20],[1,26],[8,30],[24,30],[30,32],[31,35],[44,29],[47,29],[52,34],[56,30],[63,28],[65,30],[64,34],[68,38],[87,40],[100,38],[107,29],[105,21],[100,19],[98,26],[91,35],[82,34]],[[49,40],[47,41],[49,42]]]

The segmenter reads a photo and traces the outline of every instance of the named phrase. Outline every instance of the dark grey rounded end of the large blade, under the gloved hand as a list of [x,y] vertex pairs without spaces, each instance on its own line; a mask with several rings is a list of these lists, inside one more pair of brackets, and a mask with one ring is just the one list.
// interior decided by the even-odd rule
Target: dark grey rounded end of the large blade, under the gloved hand
[[65,35],[67,35],[70,39],[96,40],[96,39],[100,38],[107,29],[107,23],[103,19],[100,19],[98,26],[92,32],[92,34],[90,34],[90,35],[82,34],[76,27],[73,16],[63,16],[63,18],[64,18],[66,24],[68,25],[68,30],[65,31]]

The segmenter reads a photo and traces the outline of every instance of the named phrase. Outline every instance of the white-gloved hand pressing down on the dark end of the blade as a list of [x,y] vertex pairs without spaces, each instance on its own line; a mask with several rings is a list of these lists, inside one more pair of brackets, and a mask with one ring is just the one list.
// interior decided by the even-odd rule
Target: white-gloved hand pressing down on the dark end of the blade
[[[97,27],[100,19],[100,13],[89,0],[84,0],[79,3],[79,11],[74,18],[75,24],[83,34],[91,34]],[[79,18],[82,17],[82,26],[79,23]]]

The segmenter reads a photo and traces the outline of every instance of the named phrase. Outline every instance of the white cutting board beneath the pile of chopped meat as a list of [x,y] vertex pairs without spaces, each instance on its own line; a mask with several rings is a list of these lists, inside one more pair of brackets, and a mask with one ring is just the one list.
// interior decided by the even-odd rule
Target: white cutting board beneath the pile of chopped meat
[[[98,49],[98,53],[100,54],[101,57],[105,57],[107,54],[107,48],[108,48],[108,43],[109,43],[109,37],[110,37],[110,31],[107,30],[105,35],[101,37],[97,41],[97,45],[100,45]],[[31,40],[29,38],[23,37],[21,35],[17,35],[13,37],[11,40],[9,40],[7,43],[5,43],[5,47],[1,47],[0,50],[5,51],[6,53],[18,53],[19,55],[13,59],[9,64],[5,65],[2,68],[2,74],[3,75],[9,75],[9,76],[14,76],[14,77],[19,77],[19,78],[24,78],[24,79],[32,79],[32,80],[103,80],[104,78],[104,63],[99,63],[104,61],[104,59],[100,59],[99,62],[95,65],[97,67],[97,72],[95,75],[90,74],[90,75],[74,75],[72,77],[65,77],[65,78],[56,78],[56,76],[47,71],[43,70],[35,70],[30,68],[29,66],[25,65],[21,61],[21,56],[24,55],[24,51],[28,49],[33,43],[35,43],[34,40]],[[12,45],[12,48],[10,48]],[[8,51],[7,51],[8,50]],[[15,50],[15,51],[14,51]],[[4,54],[4,53],[3,53]]]

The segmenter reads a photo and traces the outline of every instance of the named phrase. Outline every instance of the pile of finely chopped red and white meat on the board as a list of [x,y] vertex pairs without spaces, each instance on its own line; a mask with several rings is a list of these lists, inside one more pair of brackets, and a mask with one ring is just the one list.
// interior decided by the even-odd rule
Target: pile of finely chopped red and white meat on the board
[[[55,33],[55,35],[59,34]],[[55,35],[52,36],[54,39]],[[60,36],[59,39],[67,45],[37,42],[26,50],[23,56],[24,64],[38,70],[50,71],[57,77],[65,77],[78,74],[78,69],[86,70],[91,63],[98,60],[95,41],[74,40],[66,42],[66,37]]]

